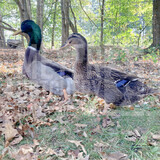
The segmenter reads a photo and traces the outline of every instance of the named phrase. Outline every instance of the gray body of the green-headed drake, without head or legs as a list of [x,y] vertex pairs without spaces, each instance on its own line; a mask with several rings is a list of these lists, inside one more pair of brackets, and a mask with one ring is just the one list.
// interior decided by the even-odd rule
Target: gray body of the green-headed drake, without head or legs
[[62,96],[64,88],[68,94],[73,94],[75,91],[73,79],[68,76],[60,76],[57,71],[73,73],[72,70],[42,57],[36,49],[32,47],[27,48],[23,74],[56,95]]

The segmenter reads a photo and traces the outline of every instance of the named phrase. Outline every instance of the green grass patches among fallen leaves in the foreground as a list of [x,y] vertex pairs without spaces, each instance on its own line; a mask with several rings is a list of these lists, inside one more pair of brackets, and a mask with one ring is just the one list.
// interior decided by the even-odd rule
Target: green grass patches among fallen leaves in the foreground
[[[41,126],[36,128],[35,132],[41,147],[53,148],[55,150],[62,150],[66,156],[69,151],[77,149],[76,145],[68,142],[67,140],[81,141],[84,145],[87,154],[90,155],[92,160],[100,160],[100,152],[116,152],[121,151],[126,153],[131,160],[159,160],[160,159],[160,143],[157,146],[149,146],[148,140],[151,139],[151,132],[158,133],[160,131],[160,110],[154,108],[150,110],[148,107],[135,108],[129,110],[119,108],[111,110],[108,115],[119,114],[118,118],[110,116],[112,121],[116,124],[119,122],[120,127],[117,125],[102,127],[102,119],[104,116],[92,115],[84,112],[79,113],[54,113],[47,118],[57,121],[52,126]],[[59,122],[61,117],[61,122]],[[101,119],[100,121],[98,119]],[[86,127],[77,127],[75,124],[86,124]],[[100,131],[94,132],[94,128],[100,126]],[[128,131],[138,129],[141,131],[141,137],[136,142],[126,140]],[[87,134],[87,137],[83,133]],[[2,138],[0,146],[2,145]],[[109,144],[107,148],[97,148],[95,144],[104,142]],[[30,144],[32,138],[26,137],[18,144]],[[0,147],[1,149],[2,147]],[[79,150],[80,147],[79,147]],[[58,159],[52,156],[53,159]],[[51,158],[51,159],[52,159]],[[9,159],[5,157],[4,160]],[[46,159],[41,156],[40,159]]]

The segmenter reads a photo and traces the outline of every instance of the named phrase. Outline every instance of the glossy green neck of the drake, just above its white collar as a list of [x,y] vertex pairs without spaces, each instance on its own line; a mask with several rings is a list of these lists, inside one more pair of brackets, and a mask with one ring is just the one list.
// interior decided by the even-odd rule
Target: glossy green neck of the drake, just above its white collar
[[41,41],[42,41],[41,32],[40,31],[32,31],[32,32],[28,33],[28,35],[30,37],[29,46],[34,47],[36,50],[40,50]]

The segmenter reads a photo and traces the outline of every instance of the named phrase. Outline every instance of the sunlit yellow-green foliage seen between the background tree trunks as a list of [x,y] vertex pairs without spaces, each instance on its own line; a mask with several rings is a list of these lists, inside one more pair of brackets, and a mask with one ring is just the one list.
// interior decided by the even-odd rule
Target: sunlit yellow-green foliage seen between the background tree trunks
[[[44,1],[44,41],[45,47],[51,47],[52,26],[55,0]],[[61,44],[61,5],[57,2],[55,46]],[[83,34],[91,44],[100,43],[100,0],[71,0],[71,6],[77,19],[78,32]],[[31,0],[32,19],[36,21],[36,4]],[[107,0],[104,11],[104,44],[146,47],[152,41],[152,0]],[[20,15],[18,6],[13,0],[1,0],[0,11],[3,21],[19,28]],[[70,13],[73,22],[73,15]],[[72,31],[70,30],[70,33]],[[9,38],[11,32],[5,30]]]

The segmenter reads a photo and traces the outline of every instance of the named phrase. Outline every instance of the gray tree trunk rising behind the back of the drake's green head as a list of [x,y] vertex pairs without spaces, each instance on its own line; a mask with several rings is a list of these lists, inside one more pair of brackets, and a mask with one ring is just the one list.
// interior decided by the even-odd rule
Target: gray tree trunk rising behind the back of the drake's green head
[[44,0],[37,0],[37,24],[41,28],[43,35],[43,10],[44,10]]

